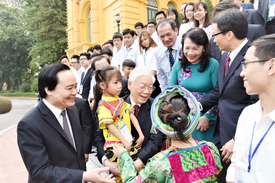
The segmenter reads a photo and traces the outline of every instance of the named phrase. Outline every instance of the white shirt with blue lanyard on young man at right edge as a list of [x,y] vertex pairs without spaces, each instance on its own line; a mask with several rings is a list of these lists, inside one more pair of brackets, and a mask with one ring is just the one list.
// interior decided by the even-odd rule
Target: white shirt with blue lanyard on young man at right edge
[[235,145],[231,164],[227,169],[226,181],[243,183],[275,182],[275,124],[263,139],[259,149],[251,160],[248,172],[248,155],[251,144],[251,155],[258,142],[275,120],[275,110],[262,117],[261,100],[244,108],[238,120]]

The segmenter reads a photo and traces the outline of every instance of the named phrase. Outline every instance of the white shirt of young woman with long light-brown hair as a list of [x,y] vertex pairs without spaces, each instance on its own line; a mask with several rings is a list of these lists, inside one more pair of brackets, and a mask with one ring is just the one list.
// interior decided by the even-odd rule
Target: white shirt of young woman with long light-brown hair
[[142,54],[139,54],[138,57],[138,66],[139,67],[146,67],[148,70],[156,71],[156,57],[155,51],[156,48],[150,47],[149,50],[145,52],[145,48],[142,50]]

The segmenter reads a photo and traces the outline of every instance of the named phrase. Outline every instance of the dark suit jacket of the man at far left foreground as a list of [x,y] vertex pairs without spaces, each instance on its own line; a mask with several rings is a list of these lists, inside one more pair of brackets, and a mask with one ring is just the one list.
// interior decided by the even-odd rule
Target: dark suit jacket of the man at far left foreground
[[82,181],[86,165],[78,111],[75,106],[66,110],[76,151],[57,118],[42,100],[18,123],[17,142],[29,172],[28,183]]

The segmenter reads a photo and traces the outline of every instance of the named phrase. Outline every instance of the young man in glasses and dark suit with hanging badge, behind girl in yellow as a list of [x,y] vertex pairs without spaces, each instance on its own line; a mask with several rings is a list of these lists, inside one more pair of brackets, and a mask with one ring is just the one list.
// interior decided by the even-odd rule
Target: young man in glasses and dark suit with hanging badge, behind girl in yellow
[[90,53],[80,53],[79,62],[80,65],[85,69],[81,75],[81,83],[78,83],[80,84],[79,94],[82,96],[83,99],[88,99],[91,87],[92,74],[94,72],[90,65]]

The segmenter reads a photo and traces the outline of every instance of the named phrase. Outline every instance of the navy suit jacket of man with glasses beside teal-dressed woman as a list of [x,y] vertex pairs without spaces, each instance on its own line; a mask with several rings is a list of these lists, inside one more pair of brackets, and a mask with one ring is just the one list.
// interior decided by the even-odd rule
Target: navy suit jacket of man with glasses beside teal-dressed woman
[[[222,55],[217,84],[208,95],[200,99],[200,103],[203,106],[202,113],[206,113],[218,103],[220,117],[217,117],[217,123],[219,123],[219,140],[222,146],[232,138],[234,139],[238,119],[243,109],[259,100],[258,95],[248,95],[246,93],[243,78],[240,77],[242,71],[241,62],[250,43],[248,41],[237,54],[228,69],[226,77],[224,77],[224,74],[228,52]],[[216,132],[217,129],[215,129],[214,134]]]

